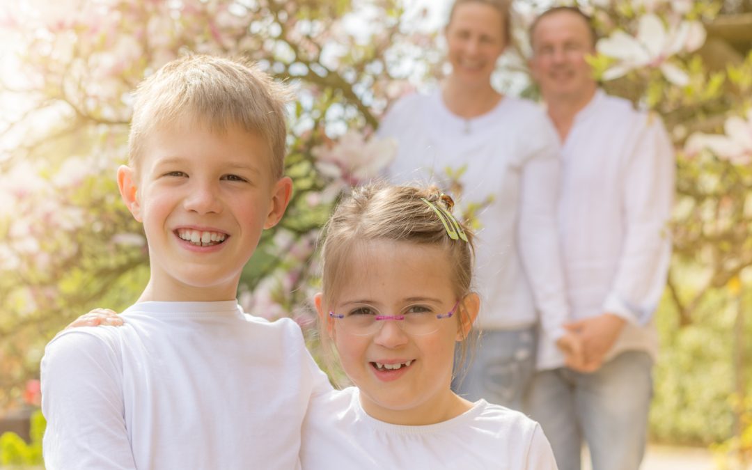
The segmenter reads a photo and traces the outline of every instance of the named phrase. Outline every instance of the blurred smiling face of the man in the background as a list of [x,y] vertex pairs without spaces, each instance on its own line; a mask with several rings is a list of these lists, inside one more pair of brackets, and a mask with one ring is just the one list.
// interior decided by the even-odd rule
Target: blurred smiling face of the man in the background
[[541,18],[532,31],[533,79],[544,99],[583,99],[592,94],[596,81],[585,56],[595,52],[585,20],[569,11]]

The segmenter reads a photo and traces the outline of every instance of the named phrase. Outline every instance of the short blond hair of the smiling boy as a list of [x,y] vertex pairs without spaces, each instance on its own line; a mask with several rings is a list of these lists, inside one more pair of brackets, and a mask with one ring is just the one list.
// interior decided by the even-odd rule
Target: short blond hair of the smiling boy
[[189,115],[214,132],[239,126],[258,134],[271,153],[271,174],[284,172],[287,87],[243,60],[189,55],[168,62],[139,84],[129,135],[129,164],[138,166],[144,141],[159,126]]

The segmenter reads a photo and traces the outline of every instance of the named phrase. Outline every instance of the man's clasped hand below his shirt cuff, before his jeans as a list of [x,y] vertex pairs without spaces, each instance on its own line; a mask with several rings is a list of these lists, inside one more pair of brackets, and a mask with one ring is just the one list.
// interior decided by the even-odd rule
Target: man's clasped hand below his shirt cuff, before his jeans
[[572,368],[583,372],[598,370],[603,358],[619,338],[624,323],[626,320],[622,317],[606,313],[564,325],[565,329],[577,335],[582,344],[584,364]]

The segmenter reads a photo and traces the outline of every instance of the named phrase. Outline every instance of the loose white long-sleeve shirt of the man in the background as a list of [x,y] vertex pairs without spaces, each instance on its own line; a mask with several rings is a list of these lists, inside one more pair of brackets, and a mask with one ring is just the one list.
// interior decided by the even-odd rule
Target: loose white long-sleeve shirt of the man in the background
[[[598,90],[562,146],[559,237],[572,317],[627,320],[606,360],[624,350],[655,356],[655,311],[671,258],[673,148],[663,123]],[[540,341],[538,368],[556,350]]]

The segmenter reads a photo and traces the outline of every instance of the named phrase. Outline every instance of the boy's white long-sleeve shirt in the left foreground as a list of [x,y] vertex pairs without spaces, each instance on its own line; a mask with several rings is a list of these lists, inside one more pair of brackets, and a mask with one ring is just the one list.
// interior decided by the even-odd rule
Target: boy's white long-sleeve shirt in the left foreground
[[235,301],[142,302],[122,317],[47,345],[47,468],[299,468],[309,399],[330,386],[295,322]]

